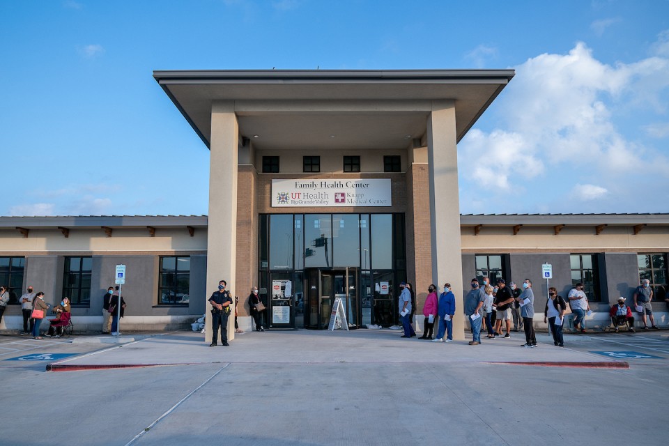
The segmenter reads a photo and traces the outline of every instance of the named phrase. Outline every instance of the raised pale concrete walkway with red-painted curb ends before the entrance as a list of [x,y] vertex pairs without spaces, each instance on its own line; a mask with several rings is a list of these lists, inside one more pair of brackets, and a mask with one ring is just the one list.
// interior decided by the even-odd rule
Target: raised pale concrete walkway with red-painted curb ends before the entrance
[[[275,330],[238,333],[229,347],[209,347],[199,332],[169,334],[122,335],[118,343],[112,339],[107,349],[89,355],[54,363],[56,369],[91,369],[103,366],[138,366],[168,364],[231,363],[336,363],[336,362],[532,362],[600,364],[620,366],[624,362],[584,353],[569,348],[589,339],[583,335],[564,336],[567,347],[553,346],[548,334],[537,334],[537,348],[523,348],[525,337],[516,334],[509,339],[484,340],[478,346],[468,341],[437,343],[422,339],[401,339],[392,330],[311,331]],[[109,339],[109,337],[104,338]],[[80,341],[91,341],[82,339]],[[77,340],[75,340],[77,342]]]

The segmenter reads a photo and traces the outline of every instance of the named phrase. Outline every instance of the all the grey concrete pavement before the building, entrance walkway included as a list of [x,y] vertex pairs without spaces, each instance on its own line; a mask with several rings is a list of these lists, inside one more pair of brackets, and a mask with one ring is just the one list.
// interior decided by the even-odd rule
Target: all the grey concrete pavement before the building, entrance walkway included
[[669,332],[399,334],[0,336],[0,445],[666,444]]

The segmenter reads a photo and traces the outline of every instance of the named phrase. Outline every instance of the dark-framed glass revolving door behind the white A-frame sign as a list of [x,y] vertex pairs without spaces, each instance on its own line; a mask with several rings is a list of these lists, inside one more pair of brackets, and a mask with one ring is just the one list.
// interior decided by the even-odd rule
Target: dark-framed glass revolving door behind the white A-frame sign
[[306,328],[325,330],[330,324],[332,305],[340,298],[344,304],[349,328],[357,328],[360,321],[358,308],[357,268],[341,270],[307,270],[307,323]]

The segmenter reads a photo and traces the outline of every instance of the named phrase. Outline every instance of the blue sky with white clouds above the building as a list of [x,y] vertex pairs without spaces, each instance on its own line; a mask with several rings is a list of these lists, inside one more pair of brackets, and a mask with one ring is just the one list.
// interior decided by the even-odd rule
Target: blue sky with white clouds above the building
[[208,213],[153,70],[514,68],[462,213],[669,212],[669,1],[0,1],[0,215]]

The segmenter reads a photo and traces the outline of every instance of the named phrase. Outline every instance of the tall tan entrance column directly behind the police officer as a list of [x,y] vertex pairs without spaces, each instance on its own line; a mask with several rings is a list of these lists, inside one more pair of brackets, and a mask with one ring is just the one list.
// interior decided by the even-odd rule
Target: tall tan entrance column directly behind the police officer
[[[209,172],[209,223],[207,236],[207,313],[205,341],[210,342],[211,305],[209,296],[225,280],[228,290],[234,284],[237,250],[237,146],[239,128],[234,102],[214,102],[211,107]],[[235,337],[234,312],[228,319],[228,339]]]

